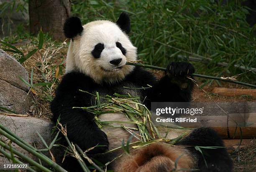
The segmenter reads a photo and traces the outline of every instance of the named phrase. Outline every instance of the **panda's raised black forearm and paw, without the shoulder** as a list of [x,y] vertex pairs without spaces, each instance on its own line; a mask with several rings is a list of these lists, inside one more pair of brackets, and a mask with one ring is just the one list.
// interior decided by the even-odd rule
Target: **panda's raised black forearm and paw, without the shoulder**
[[[145,90],[145,105],[150,108],[151,102],[190,102],[194,84],[184,77],[188,69],[188,74],[195,72],[190,63],[170,63],[166,68],[166,75],[159,82],[154,83],[151,89]],[[184,84],[187,84],[187,87],[182,89],[181,85]]]

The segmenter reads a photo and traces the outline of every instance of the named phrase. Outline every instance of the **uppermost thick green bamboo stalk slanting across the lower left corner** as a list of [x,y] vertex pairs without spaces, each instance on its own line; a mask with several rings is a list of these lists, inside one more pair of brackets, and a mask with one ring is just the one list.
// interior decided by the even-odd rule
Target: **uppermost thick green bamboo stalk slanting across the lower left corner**
[[[28,143],[24,142],[24,141],[20,141],[18,139],[16,139],[16,137],[13,137],[13,133],[10,132],[11,134],[8,134],[7,132],[5,132],[3,130],[3,128],[5,130],[8,130],[6,127],[4,127],[3,125],[0,124],[0,134],[2,134],[3,136],[7,137],[8,139],[10,139],[11,141],[15,142],[17,145],[19,145],[20,147],[22,147],[24,150],[30,152],[31,154],[35,155],[36,157],[38,157],[40,160],[43,160],[44,162],[46,162],[48,165],[50,165],[51,167],[53,167],[55,170],[57,170],[58,172],[67,172],[67,170],[65,170],[64,168],[62,168],[61,166],[59,166],[58,164],[56,164],[55,162],[53,162],[51,159],[49,159],[48,157],[46,157],[45,155],[36,152],[35,148],[31,148],[32,146],[29,145]],[[28,146],[29,145],[29,146]]]

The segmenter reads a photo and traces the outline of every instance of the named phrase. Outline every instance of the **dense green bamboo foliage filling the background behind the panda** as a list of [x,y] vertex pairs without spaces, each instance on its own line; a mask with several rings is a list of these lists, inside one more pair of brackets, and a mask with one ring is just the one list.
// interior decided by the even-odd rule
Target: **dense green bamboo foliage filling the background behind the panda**
[[[13,2],[8,3],[12,9],[28,11],[27,0]],[[72,15],[79,16],[85,24],[102,19],[116,21],[121,12],[128,12],[131,17],[129,36],[138,47],[139,58],[146,59],[149,65],[161,67],[172,61],[189,61],[193,62],[197,73],[220,77],[256,67],[256,26],[250,27],[246,22],[248,8],[241,2],[72,0]],[[8,9],[6,6],[0,6],[0,17],[7,14],[4,12]],[[28,37],[26,28],[24,24],[18,25],[13,32],[16,40],[17,35]],[[9,37],[7,39],[10,41]],[[255,72],[239,78],[254,84],[255,79]]]

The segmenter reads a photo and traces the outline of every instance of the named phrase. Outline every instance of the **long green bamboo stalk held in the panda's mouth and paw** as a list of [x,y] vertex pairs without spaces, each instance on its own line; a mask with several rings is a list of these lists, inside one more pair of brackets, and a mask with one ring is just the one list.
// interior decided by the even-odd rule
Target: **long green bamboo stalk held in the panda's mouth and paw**
[[[158,67],[158,66],[152,66],[152,65],[145,65],[145,64],[141,64],[141,63],[126,62],[126,65],[147,67],[147,68],[151,68],[151,69],[164,70],[164,71],[166,70],[166,68],[164,68],[164,67]],[[212,76],[200,75],[200,74],[196,74],[196,73],[193,73],[193,74],[188,75],[188,76],[202,77],[202,78],[207,78],[207,79],[211,79],[211,80],[220,80],[220,81],[224,81],[224,82],[232,82],[232,83],[235,83],[235,84],[239,84],[239,85],[244,85],[244,86],[256,88],[256,85],[252,85],[252,84],[248,84],[248,83],[244,83],[244,82],[239,82],[239,81],[234,81],[234,80],[224,80],[224,79],[222,79],[222,78],[220,78],[220,77],[212,77]]]

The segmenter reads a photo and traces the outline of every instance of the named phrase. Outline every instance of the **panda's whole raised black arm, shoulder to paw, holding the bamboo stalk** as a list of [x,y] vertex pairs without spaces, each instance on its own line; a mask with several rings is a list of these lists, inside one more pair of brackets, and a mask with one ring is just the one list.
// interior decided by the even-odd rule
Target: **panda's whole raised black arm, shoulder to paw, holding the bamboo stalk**
[[152,86],[142,90],[144,104],[150,107],[151,102],[189,102],[194,84],[185,75],[194,72],[190,63],[172,62],[166,68],[164,77],[158,81],[150,72],[140,67],[136,67],[130,77],[139,87],[147,87],[147,84]]

